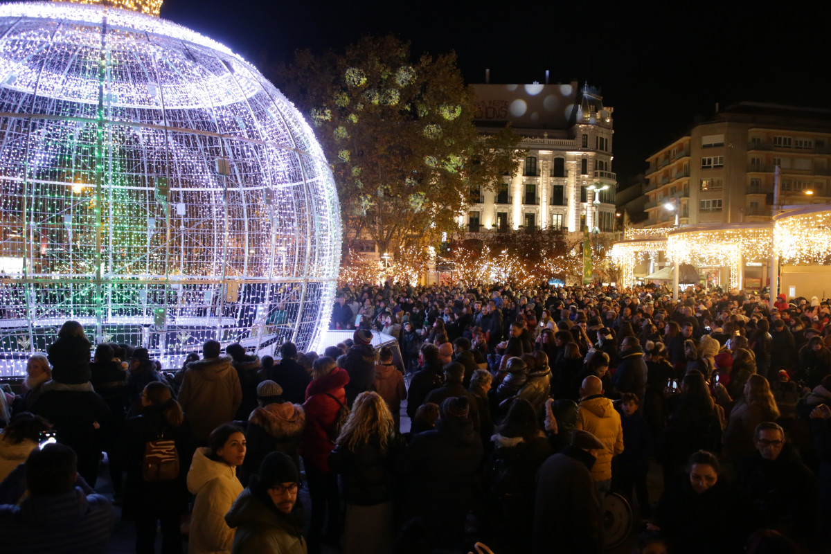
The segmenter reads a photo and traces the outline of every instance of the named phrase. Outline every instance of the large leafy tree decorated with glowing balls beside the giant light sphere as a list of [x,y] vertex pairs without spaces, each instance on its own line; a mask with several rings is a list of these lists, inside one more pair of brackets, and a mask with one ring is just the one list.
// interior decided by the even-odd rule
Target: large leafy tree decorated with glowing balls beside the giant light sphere
[[477,134],[452,52],[413,61],[407,42],[363,37],[343,52],[298,51],[275,80],[332,164],[347,243],[361,232],[380,252],[437,243],[471,189],[517,169],[513,130]]

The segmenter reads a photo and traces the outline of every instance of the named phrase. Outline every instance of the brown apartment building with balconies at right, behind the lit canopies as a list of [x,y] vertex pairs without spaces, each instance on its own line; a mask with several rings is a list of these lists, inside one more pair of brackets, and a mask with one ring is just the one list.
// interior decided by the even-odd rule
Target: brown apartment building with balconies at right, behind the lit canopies
[[[768,221],[831,201],[831,110],[740,102],[647,158],[643,227]],[[779,202],[774,207],[774,168]]]

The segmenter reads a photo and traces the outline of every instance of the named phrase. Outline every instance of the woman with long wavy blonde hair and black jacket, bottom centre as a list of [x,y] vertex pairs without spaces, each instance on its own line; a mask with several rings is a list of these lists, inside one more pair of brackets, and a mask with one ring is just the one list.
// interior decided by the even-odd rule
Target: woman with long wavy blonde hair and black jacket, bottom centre
[[376,392],[362,392],[329,454],[329,468],[343,477],[347,503],[344,554],[392,551],[393,463],[400,448],[384,399]]

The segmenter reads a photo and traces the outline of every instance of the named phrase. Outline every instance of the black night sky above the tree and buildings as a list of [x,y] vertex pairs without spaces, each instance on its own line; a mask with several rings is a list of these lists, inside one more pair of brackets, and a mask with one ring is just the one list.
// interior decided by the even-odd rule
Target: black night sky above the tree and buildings
[[[827,25],[809,2],[266,2],[165,0],[162,17],[249,61],[393,32],[414,53],[454,50],[469,83],[588,80],[615,109],[620,186],[644,159],[736,101],[831,108]],[[280,86],[279,76],[272,76]]]

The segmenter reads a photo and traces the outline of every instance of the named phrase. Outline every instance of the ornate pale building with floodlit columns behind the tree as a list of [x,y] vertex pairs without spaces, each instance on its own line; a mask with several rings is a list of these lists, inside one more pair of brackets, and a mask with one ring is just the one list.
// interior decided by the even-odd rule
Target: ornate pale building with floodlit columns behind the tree
[[527,151],[519,171],[494,189],[470,191],[459,223],[467,232],[543,228],[595,233],[615,228],[617,177],[612,172],[613,120],[599,91],[578,82],[472,85],[477,129],[510,123]]

